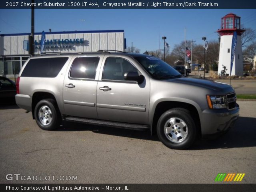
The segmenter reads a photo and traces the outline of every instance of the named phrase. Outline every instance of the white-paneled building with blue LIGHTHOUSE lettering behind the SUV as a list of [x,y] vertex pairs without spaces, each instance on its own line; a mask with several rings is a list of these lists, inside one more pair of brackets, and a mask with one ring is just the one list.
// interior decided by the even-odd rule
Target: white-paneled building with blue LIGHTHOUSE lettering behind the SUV
[[[28,36],[0,34],[0,76],[18,74],[30,57]],[[42,33],[35,33],[35,54],[40,54]],[[44,52],[96,52],[98,50],[124,51],[124,30],[45,32]]]

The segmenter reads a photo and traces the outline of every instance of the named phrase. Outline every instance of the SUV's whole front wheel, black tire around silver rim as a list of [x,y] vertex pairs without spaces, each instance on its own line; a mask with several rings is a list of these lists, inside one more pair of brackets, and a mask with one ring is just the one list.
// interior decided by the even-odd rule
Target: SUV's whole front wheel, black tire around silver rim
[[[176,122],[175,125],[172,126],[168,120],[173,120],[173,122]],[[178,123],[185,123],[186,126],[180,128]],[[166,133],[166,129],[164,128],[165,125],[167,127],[170,125],[170,133],[168,133],[168,131]],[[196,138],[196,125],[190,115],[190,112],[184,108],[173,108],[164,112],[158,120],[156,130],[160,141],[165,146],[172,149],[186,149],[194,143]],[[185,133],[183,138],[182,133],[180,133],[181,130],[183,131],[182,133]],[[176,140],[175,137],[177,137]]]

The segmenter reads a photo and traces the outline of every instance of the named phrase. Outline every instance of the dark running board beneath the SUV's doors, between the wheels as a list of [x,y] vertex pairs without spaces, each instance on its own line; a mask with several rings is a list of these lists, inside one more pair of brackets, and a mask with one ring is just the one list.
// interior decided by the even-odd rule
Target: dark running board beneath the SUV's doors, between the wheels
[[79,122],[79,123],[85,123],[85,124],[110,126],[110,127],[123,128],[123,129],[147,130],[150,128],[149,125],[113,122],[113,121],[98,120],[98,119],[86,119],[81,117],[62,116],[62,118],[69,122]]

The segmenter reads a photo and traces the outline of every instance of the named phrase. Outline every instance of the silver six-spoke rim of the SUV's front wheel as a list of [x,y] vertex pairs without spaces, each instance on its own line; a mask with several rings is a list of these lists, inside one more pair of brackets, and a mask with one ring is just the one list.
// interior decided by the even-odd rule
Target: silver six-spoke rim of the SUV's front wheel
[[180,143],[188,136],[188,126],[181,118],[172,117],[164,124],[164,134],[171,142]]

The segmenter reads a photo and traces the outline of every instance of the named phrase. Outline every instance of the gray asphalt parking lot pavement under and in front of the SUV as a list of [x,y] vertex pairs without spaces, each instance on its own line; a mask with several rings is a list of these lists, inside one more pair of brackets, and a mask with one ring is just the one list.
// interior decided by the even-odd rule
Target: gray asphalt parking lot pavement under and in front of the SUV
[[[256,183],[256,102],[238,104],[240,118],[230,132],[189,150],[166,148],[149,132],[71,123],[44,131],[31,113],[5,105],[0,107],[0,183],[214,183],[220,172],[245,173],[242,183]],[[25,180],[6,180],[7,174]]]

